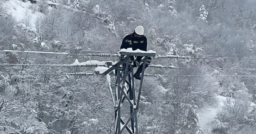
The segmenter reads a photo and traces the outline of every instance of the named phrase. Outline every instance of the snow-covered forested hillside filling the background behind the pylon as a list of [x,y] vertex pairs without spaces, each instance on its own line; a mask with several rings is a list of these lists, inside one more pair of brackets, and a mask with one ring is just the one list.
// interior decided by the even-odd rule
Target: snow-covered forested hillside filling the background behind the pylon
[[[152,60],[154,65],[178,68],[146,69],[148,74],[172,76],[145,78],[138,111],[141,134],[256,134],[253,0],[30,2],[36,1],[0,1],[0,50],[116,54],[123,37],[142,25],[148,50],[200,57]],[[9,13],[9,8],[18,10],[15,4],[27,6],[22,20]],[[29,13],[38,14],[37,18]],[[72,64],[75,59],[89,59],[3,51],[0,56],[0,63],[13,64]],[[112,134],[114,108],[106,78],[58,75],[93,71],[93,67],[1,65],[0,133]],[[218,98],[224,99],[221,108]],[[202,124],[200,120],[213,111],[203,113],[207,108],[218,111]],[[128,112],[122,111],[126,119]]]

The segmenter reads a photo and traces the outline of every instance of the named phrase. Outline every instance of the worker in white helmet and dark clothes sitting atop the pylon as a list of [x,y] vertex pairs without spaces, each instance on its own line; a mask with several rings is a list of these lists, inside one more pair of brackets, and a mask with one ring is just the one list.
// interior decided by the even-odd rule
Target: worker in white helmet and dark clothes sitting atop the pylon
[[[142,51],[147,51],[147,38],[143,35],[144,28],[143,26],[137,26],[133,33],[126,35],[122,41],[120,49],[132,48],[132,50],[140,49]],[[136,61],[139,62],[142,59],[142,56],[138,56]],[[132,60],[134,60],[132,58]],[[148,57],[146,59],[146,67],[150,65],[152,58]],[[136,67],[136,65],[134,65]],[[134,78],[140,80],[140,73],[142,73],[143,64],[138,67],[136,73],[134,73]]]

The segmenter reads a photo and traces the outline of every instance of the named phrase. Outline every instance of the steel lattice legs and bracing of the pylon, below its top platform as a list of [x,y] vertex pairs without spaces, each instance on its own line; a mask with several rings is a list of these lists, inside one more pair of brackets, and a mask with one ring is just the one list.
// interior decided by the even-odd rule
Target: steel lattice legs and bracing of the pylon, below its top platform
[[[137,110],[138,110],[138,104],[140,101],[140,94],[142,90],[142,82],[144,78],[144,70],[146,66],[146,58],[144,60],[143,69],[142,69],[142,78],[140,81],[140,87],[138,91],[138,98],[136,99],[135,94],[135,82],[133,77],[133,65],[130,65],[130,61],[126,61],[126,67],[124,70],[124,78],[120,78],[120,68],[117,69],[116,74],[116,106],[115,106],[115,134],[121,134],[126,128],[126,130],[130,134],[138,134],[138,120],[137,120]],[[128,68],[130,67],[130,70],[128,71]],[[126,77],[128,77],[128,81],[126,80]],[[126,89],[126,85],[129,86],[128,89]],[[126,90],[125,90],[126,89]],[[130,103],[130,118],[125,122],[121,118],[121,104],[123,104],[124,100],[127,100]],[[128,127],[128,124],[130,123],[130,127]]]

